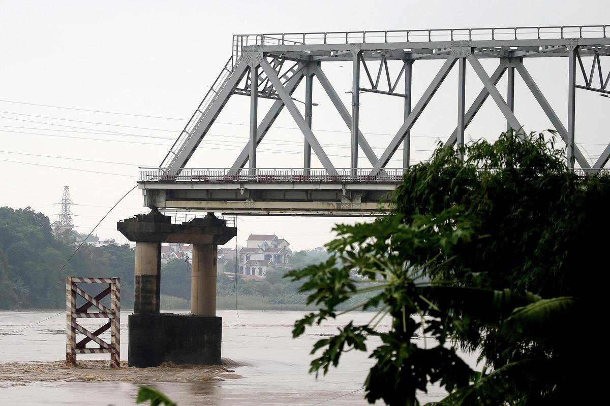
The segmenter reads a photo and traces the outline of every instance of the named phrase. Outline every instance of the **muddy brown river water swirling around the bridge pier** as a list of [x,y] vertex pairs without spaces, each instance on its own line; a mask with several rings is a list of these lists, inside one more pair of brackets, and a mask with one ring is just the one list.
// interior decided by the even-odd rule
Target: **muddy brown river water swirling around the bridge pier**
[[[223,318],[223,366],[158,368],[109,367],[109,355],[77,355],[67,368],[65,313],[0,312],[0,403],[10,405],[134,405],[138,385],[159,388],[179,405],[365,405],[362,383],[371,360],[362,352],[344,355],[326,376],[307,373],[315,341],[337,332],[350,319],[368,322],[373,313],[356,312],[316,326],[293,340],[291,329],[303,312],[220,310]],[[127,315],[121,314],[121,357],[127,358]],[[51,318],[49,318],[51,317]],[[49,320],[45,320],[49,318]],[[30,326],[13,335],[13,332]],[[79,319],[85,327],[101,320]],[[378,329],[387,329],[389,319]],[[102,323],[103,324],[103,323]],[[103,336],[102,336],[103,337]],[[107,338],[107,337],[106,337]],[[369,348],[379,341],[369,339]],[[422,401],[445,392],[430,388]],[[320,403],[322,402],[322,403]]]

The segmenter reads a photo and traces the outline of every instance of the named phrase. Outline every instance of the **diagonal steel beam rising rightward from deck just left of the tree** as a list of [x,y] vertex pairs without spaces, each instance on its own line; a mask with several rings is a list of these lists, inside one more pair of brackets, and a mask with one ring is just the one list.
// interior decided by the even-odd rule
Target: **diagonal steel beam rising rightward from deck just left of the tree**
[[426,107],[426,105],[428,105],[430,99],[432,99],[434,93],[436,93],[436,91],[439,89],[441,83],[443,83],[443,80],[445,80],[445,77],[447,77],[449,71],[451,68],[453,68],[455,63],[456,57],[453,55],[447,57],[447,60],[445,60],[445,63],[443,63],[443,66],[440,68],[439,72],[437,72],[434,79],[432,79],[432,82],[428,85],[428,88],[417,102],[417,105],[415,105],[415,108],[411,111],[411,114],[409,114],[409,117],[407,117],[403,125],[400,126],[400,129],[394,138],[392,138],[392,141],[390,141],[390,144],[387,146],[386,150],[382,153],[375,165],[373,165],[373,168],[375,169],[371,172],[371,174],[375,175],[379,172],[379,168],[386,167],[387,163],[390,161],[390,159],[392,159],[392,156],[398,149],[398,146],[401,144],[401,142],[403,142],[404,137],[407,135],[407,131],[411,130],[411,127],[413,127],[415,121],[417,121],[418,117],[422,114],[423,109]]

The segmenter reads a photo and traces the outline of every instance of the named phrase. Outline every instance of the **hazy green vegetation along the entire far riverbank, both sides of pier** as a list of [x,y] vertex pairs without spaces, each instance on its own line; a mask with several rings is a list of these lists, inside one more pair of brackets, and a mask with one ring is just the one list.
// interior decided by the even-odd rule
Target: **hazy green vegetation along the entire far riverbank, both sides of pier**
[[[127,245],[90,247],[74,252],[73,245],[55,238],[46,215],[30,208],[0,208],[0,309],[61,309],[65,306],[65,277],[118,276],[121,278],[121,307],[134,305],[134,250]],[[293,266],[304,267],[325,261],[325,250],[295,251]],[[229,262],[228,273],[234,270]],[[287,269],[269,271],[265,281],[242,281],[221,274],[217,284],[218,309],[306,310],[306,295],[298,292],[301,282],[283,276]],[[163,310],[190,308],[190,265],[181,259],[164,265],[161,271]]]

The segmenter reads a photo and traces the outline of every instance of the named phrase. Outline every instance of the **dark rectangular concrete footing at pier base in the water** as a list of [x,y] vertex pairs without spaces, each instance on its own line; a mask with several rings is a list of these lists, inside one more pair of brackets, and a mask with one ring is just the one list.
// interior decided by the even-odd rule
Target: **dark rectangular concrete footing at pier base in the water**
[[127,365],[220,365],[221,322],[221,317],[171,313],[129,315]]

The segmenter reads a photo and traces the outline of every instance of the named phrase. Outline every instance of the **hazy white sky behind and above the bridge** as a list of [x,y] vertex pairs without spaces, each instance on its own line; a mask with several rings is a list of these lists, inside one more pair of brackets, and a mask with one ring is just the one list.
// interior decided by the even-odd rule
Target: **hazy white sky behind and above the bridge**
[[[73,207],[73,212],[78,215],[74,223],[81,233],[88,233],[107,209],[134,186],[138,166],[159,165],[231,55],[234,33],[610,24],[607,0],[583,0],[578,7],[565,0],[0,4],[0,205],[32,206],[53,221],[60,209],[54,203],[59,202],[62,187],[68,185],[72,200],[79,205]],[[495,63],[484,61],[483,65],[490,72]],[[567,63],[567,58],[526,61],[564,124]],[[349,106],[350,95],[344,92],[351,89],[351,65],[326,65],[323,69]],[[438,61],[415,63],[415,100],[439,67]],[[456,76],[454,67],[412,130],[415,161],[427,159],[438,138],[446,139],[456,125]],[[295,97],[303,98],[303,87]],[[467,105],[481,87],[468,66]],[[506,88],[506,79],[498,88]],[[347,167],[350,135],[321,92],[314,83],[314,102],[320,104],[314,107],[314,130],[318,130],[321,143],[343,145],[328,147],[328,153],[333,155],[331,160],[336,167]],[[527,130],[551,127],[519,77],[515,99],[515,115]],[[260,103],[260,114],[264,114],[267,101]],[[378,155],[400,127],[402,109],[398,98],[361,96],[361,129],[371,146],[379,148]],[[609,113],[610,99],[578,91],[576,141],[590,161],[595,161],[610,142],[607,127],[596,119]],[[212,127],[188,166],[231,166],[247,140],[248,127],[240,124],[248,122],[248,114],[248,98],[232,97],[218,117],[222,124]],[[296,127],[286,112],[276,124]],[[498,108],[488,100],[467,128],[467,135],[494,139],[505,125]],[[260,144],[265,152],[259,152],[258,165],[301,166],[302,157],[290,152],[301,152],[302,139],[294,129],[271,130]],[[401,157],[400,150],[395,157]],[[364,164],[364,159],[361,162]],[[319,165],[314,158],[312,165],[316,164]],[[400,166],[400,159],[389,164]],[[116,231],[117,220],[143,211],[146,208],[142,207],[142,195],[136,190],[109,215],[96,234],[124,241]],[[330,229],[337,221],[343,220],[241,217],[237,224],[238,242],[243,244],[249,233],[276,233],[289,240],[293,249],[314,248],[332,237]]]

